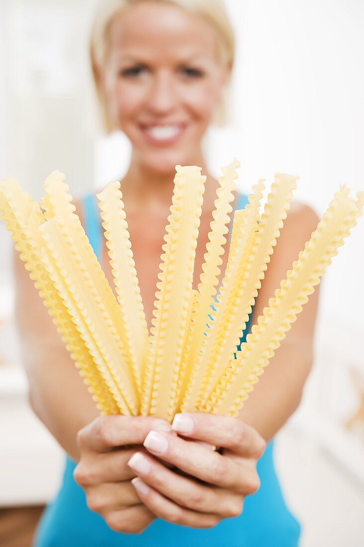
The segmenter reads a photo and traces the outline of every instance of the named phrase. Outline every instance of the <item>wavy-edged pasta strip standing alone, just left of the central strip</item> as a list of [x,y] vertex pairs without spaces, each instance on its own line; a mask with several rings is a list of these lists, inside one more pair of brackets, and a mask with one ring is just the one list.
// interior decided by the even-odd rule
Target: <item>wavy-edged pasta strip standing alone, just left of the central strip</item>
[[142,366],[148,344],[148,328],[120,183],[113,182],[97,194],[105,230],[106,246],[114,276],[123,321],[124,345],[131,362],[139,397],[142,394]]

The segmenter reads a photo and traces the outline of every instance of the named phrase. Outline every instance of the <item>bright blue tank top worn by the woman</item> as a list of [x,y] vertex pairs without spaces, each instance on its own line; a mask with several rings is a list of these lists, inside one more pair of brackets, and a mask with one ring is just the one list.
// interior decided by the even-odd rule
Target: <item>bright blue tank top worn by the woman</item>
[[[236,208],[244,208],[246,203],[247,196],[241,194]],[[83,217],[90,243],[100,257],[102,231],[93,195],[83,200]],[[240,344],[245,341],[249,328],[247,324]],[[224,519],[209,529],[188,528],[156,519],[141,534],[114,532],[100,515],[90,511],[83,489],[73,480],[76,463],[67,456],[62,485],[39,521],[34,547],[200,547],[201,544],[209,547],[297,547],[301,526],[288,510],[282,495],[273,449],[274,440],[271,440],[257,464],[261,487],[245,498],[240,516]]]

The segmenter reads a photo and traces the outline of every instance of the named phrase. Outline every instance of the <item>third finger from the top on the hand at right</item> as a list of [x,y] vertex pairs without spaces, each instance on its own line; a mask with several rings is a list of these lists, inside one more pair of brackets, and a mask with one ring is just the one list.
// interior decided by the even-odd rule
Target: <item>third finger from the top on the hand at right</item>
[[242,511],[241,496],[177,475],[142,452],[136,452],[128,465],[154,490],[182,507],[223,518],[240,515]]

